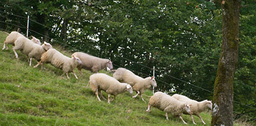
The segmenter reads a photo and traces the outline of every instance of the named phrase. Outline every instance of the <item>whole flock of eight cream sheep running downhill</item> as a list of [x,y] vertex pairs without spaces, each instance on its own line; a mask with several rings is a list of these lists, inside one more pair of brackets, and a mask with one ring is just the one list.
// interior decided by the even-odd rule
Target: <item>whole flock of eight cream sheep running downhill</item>
[[[141,78],[122,67],[113,70],[111,60],[100,59],[99,57],[94,57],[83,52],[73,53],[70,58],[52,48],[51,44],[44,42],[44,44],[41,45],[39,39],[36,39],[33,36],[32,39],[28,39],[16,31],[8,34],[4,41],[3,50],[6,46],[6,50],[8,50],[9,44],[13,45],[13,52],[15,53],[16,59],[19,57],[16,50],[20,50],[21,53],[27,55],[29,66],[31,66],[32,59],[34,58],[38,61],[38,64],[34,67],[41,65],[41,69],[44,69],[44,64],[50,63],[53,66],[62,69],[63,74],[67,74],[67,78],[69,78],[68,73],[71,72],[76,79],[78,79],[74,73],[76,67],[81,74],[81,69],[92,71],[95,74],[90,76],[88,85],[90,84],[92,91],[95,92],[99,101],[100,97],[107,100],[101,94],[101,90],[104,90],[108,94],[108,103],[113,101],[116,95],[125,91],[131,94],[133,94],[133,91],[137,92],[137,94],[132,97],[135,98],[140,95],[141,99],[144,101],[142,94],[144,94],[145,90],[151,86],[157,87],[156,80],[153,77]],[[98,73],[101,69],[106,69],[107,67],[111,71],[115,71],[113,77],[108,74]],[[110,95],[114,95],[114,98],[110,99]],[[198,102],[189,99],[184,95],[174,94],[170,96],[163,92],[156,92],[149,99],[147,112],[150,112],[152,106],[164,111],[167,120],[168,113],[170,113],[173,116],[179,116],[182,122],[184,122],[181,115],[187,114],[191,115],[193,123],[196,124],[192,115],[196,115],[202,120],[202,117],[199,114],[206,109],[212,109],[212,102],[207,100]],[[204,120],[202,120],[202,122],[205,124]],[[186,122],[184,123],[187,124]]]

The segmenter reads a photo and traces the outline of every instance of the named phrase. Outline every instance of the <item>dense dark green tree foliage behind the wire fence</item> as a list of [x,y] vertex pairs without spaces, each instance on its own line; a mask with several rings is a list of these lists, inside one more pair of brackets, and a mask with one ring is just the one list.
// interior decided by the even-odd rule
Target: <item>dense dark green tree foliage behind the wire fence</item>
[[[234,111],[249,120],[256,118],[255,8],[255,0],[241,2],[233,80]],[[205,0],[4,0],[0,1],[0,30],[19,27],[26,34],[29,15],[29,35],[111,59],[114,69],[126,67],[141,77],[152,76],[156,66],[156,90],[202,101],[213,98],[222,13],[220,5]]]

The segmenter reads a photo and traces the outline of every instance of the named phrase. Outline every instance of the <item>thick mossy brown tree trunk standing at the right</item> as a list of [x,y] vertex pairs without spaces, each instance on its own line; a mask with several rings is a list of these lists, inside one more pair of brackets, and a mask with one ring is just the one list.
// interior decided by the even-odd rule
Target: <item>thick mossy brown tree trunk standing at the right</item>
[[238,60],[241,0],[225,0],[220,4],[223,10],[222,50],[214,82],[211,125],[230,126],[233,125],[233,80]]

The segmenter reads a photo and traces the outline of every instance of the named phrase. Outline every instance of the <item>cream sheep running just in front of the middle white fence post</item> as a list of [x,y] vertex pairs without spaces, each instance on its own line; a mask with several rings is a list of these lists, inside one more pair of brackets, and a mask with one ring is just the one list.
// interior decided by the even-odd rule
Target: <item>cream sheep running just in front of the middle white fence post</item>
[[137,76],[128,69],[122,67],[114,71],[115,73],[113,74],[113,77],[116,80],[124,83],[129,83],[132,86],[133,90],[137,92],[136,95],[132,96],[133,98],[137,97],[138,94],[140,94],[142,101],[144,101],[142,94],[145,92],[145,90],[147,90],[151,86],[157,87],[156,80],[153,78],[153,76],[148,78],[141,78],[140,76]]

